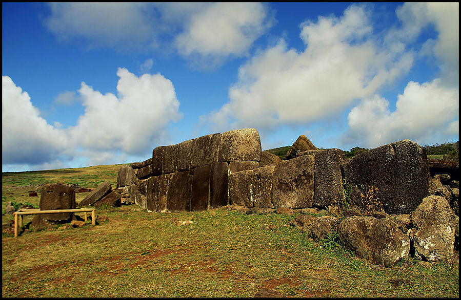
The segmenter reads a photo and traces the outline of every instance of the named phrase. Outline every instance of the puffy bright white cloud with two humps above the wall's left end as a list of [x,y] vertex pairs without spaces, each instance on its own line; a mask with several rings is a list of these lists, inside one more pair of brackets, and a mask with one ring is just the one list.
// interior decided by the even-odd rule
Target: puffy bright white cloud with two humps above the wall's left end
[[166,134],[167,124],[182,117],[173,83],[159,73],[136,77],[124,68],[117,76],[118,96],[103,95],[82,82],[78,93],[85,114],[69,128],[70,136],[88,151],[146,153]]

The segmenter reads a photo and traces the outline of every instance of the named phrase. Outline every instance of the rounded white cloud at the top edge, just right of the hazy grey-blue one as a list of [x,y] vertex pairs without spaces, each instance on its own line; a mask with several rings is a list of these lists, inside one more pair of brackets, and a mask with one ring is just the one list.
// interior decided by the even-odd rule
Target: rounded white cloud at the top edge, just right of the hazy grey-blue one
[[180,54],[214,65],[228,56],[245,56],[270,26],[264,4],[213,3],[192,15],[175,45]]

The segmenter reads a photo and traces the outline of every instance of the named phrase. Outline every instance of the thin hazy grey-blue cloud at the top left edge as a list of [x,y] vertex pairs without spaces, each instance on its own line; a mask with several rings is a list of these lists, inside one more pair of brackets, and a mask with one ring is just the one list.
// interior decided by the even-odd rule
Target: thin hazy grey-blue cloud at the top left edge
[[124,51],[151,44],[155,31],[144,3],[51,3],[45,25],[64,41],[83,40],[88,48]]

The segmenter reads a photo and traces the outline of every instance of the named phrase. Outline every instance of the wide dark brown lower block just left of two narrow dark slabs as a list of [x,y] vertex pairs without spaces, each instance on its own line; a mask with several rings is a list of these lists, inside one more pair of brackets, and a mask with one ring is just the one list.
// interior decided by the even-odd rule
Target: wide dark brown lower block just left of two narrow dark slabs
[[188,171],[171,174],[168,184],[168,211],[189,211],[193,176]]

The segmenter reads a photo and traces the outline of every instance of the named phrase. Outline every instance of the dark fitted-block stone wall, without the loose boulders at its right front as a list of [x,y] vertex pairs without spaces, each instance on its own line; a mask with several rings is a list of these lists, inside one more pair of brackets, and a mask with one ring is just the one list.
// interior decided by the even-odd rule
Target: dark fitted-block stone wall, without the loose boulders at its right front
[[380,146],[352,159],[340,149],[307,148],[297,147],[293,158],[282,161],[262,153],[254,128],[206,135],[158,146],[149,159],[122,166],[117,187],[130,186],[131,201],[156,212],[228,204],[326,208],[344,200],[344,181],[351,202],[358,205],[364,205],[370,187],[376,188],[387,213],[409,213],[429,195],[427,157],[412,141]]

